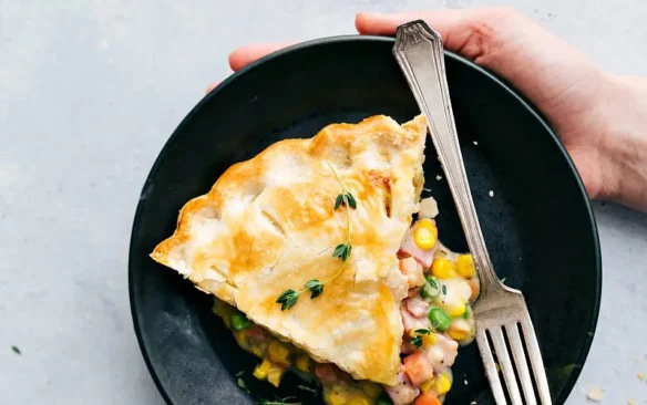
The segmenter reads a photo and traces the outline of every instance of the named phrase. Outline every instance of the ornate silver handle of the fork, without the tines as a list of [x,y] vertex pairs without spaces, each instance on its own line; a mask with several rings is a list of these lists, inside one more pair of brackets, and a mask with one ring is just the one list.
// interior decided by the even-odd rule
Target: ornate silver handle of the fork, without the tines
[[420,110],[427,115],[428,127],[439,154],[459,217],[481,279],[481,295],[497,289],[485,240],[474,209],[445,76],[442,37],[425,22],[418,20],[398,28],[393,55],[402,69]]

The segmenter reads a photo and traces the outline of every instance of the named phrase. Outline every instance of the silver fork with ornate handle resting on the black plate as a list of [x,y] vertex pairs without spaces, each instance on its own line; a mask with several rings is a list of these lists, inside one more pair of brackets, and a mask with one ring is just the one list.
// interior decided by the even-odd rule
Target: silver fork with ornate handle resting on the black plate
[[520,383],[526,404],[552,404],[542,353],[525,300],[521,291],[511,289],[499,280],[483,240],[456,136],[442,38],[423,21],[405,23],[398,28],[393,54],[420,110],[427,115],[431,138],[479,271],[481,294],[473,307],[476,342],[494,399],[499,405],[507,404],[493,352],[513,405],[524,403]]

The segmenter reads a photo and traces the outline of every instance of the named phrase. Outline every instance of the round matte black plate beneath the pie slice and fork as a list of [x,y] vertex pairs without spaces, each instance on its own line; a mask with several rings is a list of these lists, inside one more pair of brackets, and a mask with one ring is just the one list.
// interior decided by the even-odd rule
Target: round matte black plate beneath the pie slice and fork
[[[170,404],[250,404],[297,396],[320,401],[287,377],[255,382],[212,300],[148,258],[175,228],[179,208],[206,193],[232,164],[336,122],[419,113],[391,56],[392,39],[341,37],[274,53],[234,74],[182,122],[142,190],[130,250],[130,293],[146,364]],[[586,359],[599,308],[600,255],[588,199],[555,134],[514,91],[481,68],[445,55],[453,111],[483,233],[501,278],[525,294],[551,390],[563,404]],[[477,145],[474,145],[477,142]],[[427,188],[440,207],[441,239],[466,250],[441,168],[428,142]],[[494,197],[489,191],[494,191]],[[493,403],[475,344],[461,350],[446,404]],[[464,382],[468,382],[466,384]]]

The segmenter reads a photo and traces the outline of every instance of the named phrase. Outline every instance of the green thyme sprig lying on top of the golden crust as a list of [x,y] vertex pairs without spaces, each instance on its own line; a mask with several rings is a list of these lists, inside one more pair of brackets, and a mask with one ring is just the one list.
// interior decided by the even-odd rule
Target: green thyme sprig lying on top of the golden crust
[[319,281],[317,279],[312,279],[306,282],[304,284],[304,288],[300,290],[294,289],[285,290],[276,300],[276,302],[280,304],[281,311],[286,311],[295,307],[295,304],[299,300],[299,295],[306,291],[311,292],[310,294],[311,300],[321,295],[324,293],[324,287],[330,281],[338,278],[339,274],[343,272],[343,269],[346,269],[346,264],[348,263],[348,258],[350,257],[350,253],[352,251],[352,245],[350,243],[350,236],[352,233],[350,222],[350,210],[357,208],[357,200],[355,199],[352,194],[350,194],[348,188],[346,188],[343,180],[341,179],[341,177],[339,177],[339,174],[337,174],[335,167],[332,167],[332,165],[329,162],[326,162],[326,164],[328,165],[328,167],[330,167],[330,170],[332,170],[332,174],[335,175],[335,177],[339,181],[339,185],[341,186],[341,193],[335,199],[335,210],[338,210],[341,206],[346,207],[346,230],[347,230],[346,241],[343,243],[337,245],[337,247],[335,247],[335,250],[332,251],[332,257],[339,258],[343,262],[343,264],[335,274],[332,274],[332,277],[328,278],[327,280]]

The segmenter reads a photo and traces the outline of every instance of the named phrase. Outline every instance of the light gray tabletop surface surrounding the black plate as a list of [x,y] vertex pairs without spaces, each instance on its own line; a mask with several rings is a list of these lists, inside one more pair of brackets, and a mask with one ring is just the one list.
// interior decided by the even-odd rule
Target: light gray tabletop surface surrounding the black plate
[[[230,50],[352,33],[357,11],[491,2],[279,3],[0,0],[0,404],[162,403],[130,315],[131,224],[154,158],[205,86],[229,74]],[[647,2],[507,3],[605,69],[647,74]],[[604,403],[644,404],[647,217],[595,211],[603,307],[568,404],[586,403],[593,385]]]

